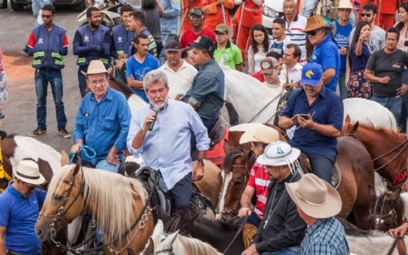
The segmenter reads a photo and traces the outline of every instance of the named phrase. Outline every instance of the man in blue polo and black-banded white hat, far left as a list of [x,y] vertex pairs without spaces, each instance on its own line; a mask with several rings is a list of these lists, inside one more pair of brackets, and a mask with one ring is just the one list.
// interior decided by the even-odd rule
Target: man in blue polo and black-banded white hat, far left
[[0,254],[40,254],[34,227],[45,199],[45,191],[37,188],[44,177],[33,160],[20,161],[13,174],[14,181],[0,194]]

